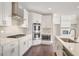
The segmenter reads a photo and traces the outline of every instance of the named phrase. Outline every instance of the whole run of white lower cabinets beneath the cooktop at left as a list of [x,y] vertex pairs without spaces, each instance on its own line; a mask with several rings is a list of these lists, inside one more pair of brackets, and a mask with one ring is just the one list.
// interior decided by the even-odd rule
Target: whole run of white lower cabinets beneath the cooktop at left
[[0,46],[0,56],[22,56],[31,46],[32,37],[27,35]]

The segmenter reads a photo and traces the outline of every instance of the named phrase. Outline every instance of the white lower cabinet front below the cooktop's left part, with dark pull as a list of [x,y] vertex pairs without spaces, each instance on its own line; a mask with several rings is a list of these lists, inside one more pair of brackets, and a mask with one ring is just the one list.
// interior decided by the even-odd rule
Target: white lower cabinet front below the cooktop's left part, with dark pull
[[18,56],[18,41],[3,45],[3,56]]

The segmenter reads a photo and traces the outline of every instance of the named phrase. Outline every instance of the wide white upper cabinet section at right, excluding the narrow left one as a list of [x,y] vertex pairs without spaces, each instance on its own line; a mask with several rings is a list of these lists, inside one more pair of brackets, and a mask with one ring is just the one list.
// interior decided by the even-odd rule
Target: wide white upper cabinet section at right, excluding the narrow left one
[[61,27],[71,27],[71,25],[77,24],[76,15],[64,15],[61,16]]

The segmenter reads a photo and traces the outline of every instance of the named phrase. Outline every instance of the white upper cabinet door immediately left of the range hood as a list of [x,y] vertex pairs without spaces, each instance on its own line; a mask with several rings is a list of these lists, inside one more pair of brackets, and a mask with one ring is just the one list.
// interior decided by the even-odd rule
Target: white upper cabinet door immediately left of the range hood
[[4,2],[3,4],[3,23],[5,26],[11,25],[12,3]]

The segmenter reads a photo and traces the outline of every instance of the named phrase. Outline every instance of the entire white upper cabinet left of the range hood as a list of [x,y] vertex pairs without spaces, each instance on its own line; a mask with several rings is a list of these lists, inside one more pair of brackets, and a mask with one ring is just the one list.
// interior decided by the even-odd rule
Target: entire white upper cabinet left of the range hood
[[0,3],[0,26],[11,25],[11,12],[12,12],[11,2]]

